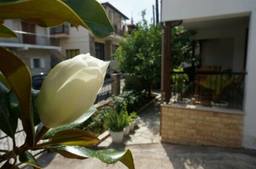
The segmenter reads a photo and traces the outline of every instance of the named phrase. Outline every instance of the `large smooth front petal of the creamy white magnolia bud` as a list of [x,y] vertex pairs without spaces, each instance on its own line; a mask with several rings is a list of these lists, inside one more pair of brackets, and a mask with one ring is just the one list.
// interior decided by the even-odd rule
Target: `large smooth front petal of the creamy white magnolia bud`
[[99,68],[84,68],[76,72],[56,92],[51,106],[42,112],[44,126],[52,128],[75,121],[92,106],[103,82]]

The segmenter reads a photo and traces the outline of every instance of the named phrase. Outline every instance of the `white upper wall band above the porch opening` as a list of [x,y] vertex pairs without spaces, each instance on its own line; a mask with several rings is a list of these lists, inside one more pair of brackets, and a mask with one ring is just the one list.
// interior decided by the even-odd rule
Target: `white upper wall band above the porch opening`
[[254,10],[255,0],[163,0],[162,21],[243,16]]

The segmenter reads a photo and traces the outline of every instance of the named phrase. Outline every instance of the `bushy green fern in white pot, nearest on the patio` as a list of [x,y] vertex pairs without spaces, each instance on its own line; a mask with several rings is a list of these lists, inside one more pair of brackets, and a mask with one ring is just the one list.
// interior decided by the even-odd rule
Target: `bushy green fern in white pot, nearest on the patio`
[[124,127],[126,127],[126,116],[112,109],[106,117],[105,124],[109,128],[112,141],[121,143],[124,137]]

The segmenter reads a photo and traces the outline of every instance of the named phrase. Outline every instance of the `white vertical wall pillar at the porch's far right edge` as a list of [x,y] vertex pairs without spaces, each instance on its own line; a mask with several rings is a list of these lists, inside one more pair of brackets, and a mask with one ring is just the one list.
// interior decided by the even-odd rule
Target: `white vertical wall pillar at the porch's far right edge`
[[248,54],[246,63],[245,91],[244,91],[244,131],[243,147],[256,148],[256,10],[252,11],[249,36]]

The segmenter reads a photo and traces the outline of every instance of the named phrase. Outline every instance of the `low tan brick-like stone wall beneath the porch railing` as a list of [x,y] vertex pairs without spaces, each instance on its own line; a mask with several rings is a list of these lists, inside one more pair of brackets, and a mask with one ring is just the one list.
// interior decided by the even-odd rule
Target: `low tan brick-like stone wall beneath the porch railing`
[[161,106],[161,141],[172,144],[241,147],[243,115]]

